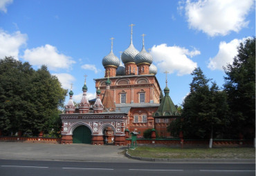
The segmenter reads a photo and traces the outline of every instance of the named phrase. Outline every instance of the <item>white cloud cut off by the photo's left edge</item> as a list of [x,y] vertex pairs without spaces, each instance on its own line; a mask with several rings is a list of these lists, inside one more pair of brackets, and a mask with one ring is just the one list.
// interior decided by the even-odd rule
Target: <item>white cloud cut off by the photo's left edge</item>
[[19,48],[26,45],[27,39],[27,35],[19,31],[8,34],[0,29],[0,58],[12,56],[19,59]]

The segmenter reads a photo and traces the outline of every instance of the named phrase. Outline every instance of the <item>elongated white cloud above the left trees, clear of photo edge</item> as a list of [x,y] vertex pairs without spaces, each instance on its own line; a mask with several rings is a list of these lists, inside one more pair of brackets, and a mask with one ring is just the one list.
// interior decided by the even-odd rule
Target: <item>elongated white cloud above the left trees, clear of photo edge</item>
[[31,50],[26,49],[23,58],[33,66],[46,65],[49,70],[71,68],[72,63],[75,63],[71,57],[59,53],[55,46],[48,44]]

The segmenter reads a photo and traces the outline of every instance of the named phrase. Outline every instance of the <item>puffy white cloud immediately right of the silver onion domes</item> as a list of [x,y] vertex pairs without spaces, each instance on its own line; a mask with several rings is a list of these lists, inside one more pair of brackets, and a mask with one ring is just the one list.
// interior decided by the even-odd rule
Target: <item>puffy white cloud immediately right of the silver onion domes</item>
[[188,56],[200,55],[199,50],[189,51],[179,46],[167,46],[165,43],[153,46],[150,53],[161,72],[166,70],[170,73],[177,71],[178,76],[190,74],[197,67],[197,63]]

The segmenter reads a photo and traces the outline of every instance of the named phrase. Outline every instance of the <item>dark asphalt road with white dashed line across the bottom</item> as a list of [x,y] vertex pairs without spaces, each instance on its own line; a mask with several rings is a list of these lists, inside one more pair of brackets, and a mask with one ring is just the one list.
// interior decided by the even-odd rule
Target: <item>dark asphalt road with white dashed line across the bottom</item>
[[252,163],[115,163],[0,159],[0,175],[255,175]]

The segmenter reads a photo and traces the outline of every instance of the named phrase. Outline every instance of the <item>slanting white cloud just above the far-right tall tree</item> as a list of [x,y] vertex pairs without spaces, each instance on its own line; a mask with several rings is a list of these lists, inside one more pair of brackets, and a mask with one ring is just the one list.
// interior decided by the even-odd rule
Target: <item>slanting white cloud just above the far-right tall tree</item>
[[237,47],[241,42],[244,43],[246,39],[250,37],[244,38],[244,39],[233,39],[229,43],[226,43],[226,41],[221,41],[219,43],[219,52],[218,54],[210,58],[210,63],[208,63],[208,68],[211,70],[223,70],[223,66],[226,67],[228,63],[232,63],[234,57],[238,54]]

